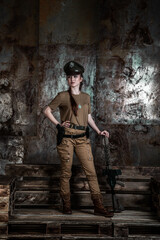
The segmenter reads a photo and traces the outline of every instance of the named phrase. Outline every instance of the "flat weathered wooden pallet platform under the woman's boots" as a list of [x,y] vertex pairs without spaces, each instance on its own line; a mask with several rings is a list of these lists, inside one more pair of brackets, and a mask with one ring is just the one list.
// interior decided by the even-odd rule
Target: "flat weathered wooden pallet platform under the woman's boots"
[[[160,239],[160,221],[157,216],[144,211],[124,211],[113,218],[93,215],[93,210],[73,211],[63,215],[57,210],[17,210],[9,221],[9,238],[57,237],[57,239],[79,239],[91,236],[106,239]],[[74,238],[73,238],[74,236]],[[63,237],[63,238],[62,238]],[[72,237],[72,238],[71,238]]]

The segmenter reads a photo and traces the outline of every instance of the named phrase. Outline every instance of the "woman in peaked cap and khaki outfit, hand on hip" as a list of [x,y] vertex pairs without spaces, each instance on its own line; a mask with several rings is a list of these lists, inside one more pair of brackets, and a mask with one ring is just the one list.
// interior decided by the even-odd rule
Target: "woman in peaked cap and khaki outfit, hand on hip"
[[[105,209],[102,204],[87,126],[89,124],[99,135],[109,137],[109,133],[106,130],[98,129],[91,116],[90,96],[81,92],[83,66],[75,61],[70,61],[64,66],[64,72],[69,90],[58,93],[44,110],[44,114],[58,129],[57,151],[61,159],[60,195],[63,200],[63,213],[72,213],[69,180],[75,151],[89,183],[94,214],[112,217],[113,213]],[[52,115],[52,111],[57,107],[60,110],[61,123]]]

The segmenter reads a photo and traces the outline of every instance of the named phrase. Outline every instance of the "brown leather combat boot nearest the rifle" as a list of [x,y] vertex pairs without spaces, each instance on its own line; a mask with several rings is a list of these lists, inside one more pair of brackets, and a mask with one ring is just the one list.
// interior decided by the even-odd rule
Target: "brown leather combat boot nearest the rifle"
[[94,214],[95,215],[100,215],[100,216],[105,216],[105,217],[113,217],[114,213],[110,212],[108,209],[106,209],[103,206],[101,194],[92,194],[91,199],[94,204]]

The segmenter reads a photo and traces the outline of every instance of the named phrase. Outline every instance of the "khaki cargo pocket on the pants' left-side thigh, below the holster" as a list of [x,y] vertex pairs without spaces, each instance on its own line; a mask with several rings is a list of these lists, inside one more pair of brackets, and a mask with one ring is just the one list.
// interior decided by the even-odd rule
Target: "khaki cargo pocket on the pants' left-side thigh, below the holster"
[[66,139],[63,138],[61,144],[57,146],[57,152],[61,161],[69,162],[70,160],[69,143]]

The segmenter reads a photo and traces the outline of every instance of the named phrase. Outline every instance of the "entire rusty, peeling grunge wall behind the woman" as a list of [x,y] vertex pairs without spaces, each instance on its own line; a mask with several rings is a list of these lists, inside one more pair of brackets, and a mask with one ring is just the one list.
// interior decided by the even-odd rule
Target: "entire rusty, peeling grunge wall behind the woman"
[[[68,88],[71,59],[85,66],[83,90],[110,132],[113,164],[159,166],[159,11],[158,0],[0,2],[1,174],[7,163],[59,162],[43,109]],[[101,139],[91,139],[104,165]]]

